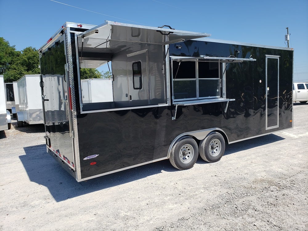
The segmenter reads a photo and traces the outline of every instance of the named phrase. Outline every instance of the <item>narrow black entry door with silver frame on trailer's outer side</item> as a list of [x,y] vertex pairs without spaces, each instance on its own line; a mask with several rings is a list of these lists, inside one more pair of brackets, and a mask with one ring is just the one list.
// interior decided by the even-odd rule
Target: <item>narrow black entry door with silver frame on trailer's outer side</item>
[[279,126],[279,56],[266,55],[266,129]]

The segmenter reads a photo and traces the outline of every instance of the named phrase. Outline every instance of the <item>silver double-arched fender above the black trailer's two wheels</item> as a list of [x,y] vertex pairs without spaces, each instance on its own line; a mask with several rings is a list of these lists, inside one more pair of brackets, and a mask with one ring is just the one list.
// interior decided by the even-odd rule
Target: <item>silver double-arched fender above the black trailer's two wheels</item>
[[200,141],[200,140],[203,140],[210,132],[219,132],[224,137],[226,143],[229,144],[229,139],[228,139],[227,135],[225,134],[225,132],[221,128],[209,128],[209,129],[198,130],[198,131],[194,131],[194,132],[185,132],[185,133],[180,134],[179,136],[176,136],[176,138],[172,141],[172,143],[170,144],[169,149],[168,149],[167,158],[168,159],[170,158],[171,149],[172,149],[173,145],[176,143],[176,141],[178,139],[180,139],[180,137],[191,136],[192,138]]

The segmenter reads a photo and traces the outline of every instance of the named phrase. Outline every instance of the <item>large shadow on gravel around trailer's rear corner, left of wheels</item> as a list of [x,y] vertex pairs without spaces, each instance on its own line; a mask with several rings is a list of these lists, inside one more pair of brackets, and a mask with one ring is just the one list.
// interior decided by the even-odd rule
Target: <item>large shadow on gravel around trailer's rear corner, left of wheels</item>
[[24,151],[26,155],[19,156],[19,158],[29,179],[47,187],[57,202],[159,174],[162,170],[177,171],[169,160],[162,160],[86,182],[77,182],[46,152],[46,145],[25,147]]

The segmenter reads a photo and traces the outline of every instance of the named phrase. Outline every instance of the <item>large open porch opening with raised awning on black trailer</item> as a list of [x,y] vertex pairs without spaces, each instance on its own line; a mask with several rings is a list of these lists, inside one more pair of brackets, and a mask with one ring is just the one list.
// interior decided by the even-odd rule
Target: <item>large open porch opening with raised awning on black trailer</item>
[[[111,21],[78,34],[81,113],[168,105],[165,75],[161,71],[165,45],[207,36],[210,34],[174,30],[169,26]],[[94,77],[81,75],[100,70],[107,70],[108,80],[94,81]]]

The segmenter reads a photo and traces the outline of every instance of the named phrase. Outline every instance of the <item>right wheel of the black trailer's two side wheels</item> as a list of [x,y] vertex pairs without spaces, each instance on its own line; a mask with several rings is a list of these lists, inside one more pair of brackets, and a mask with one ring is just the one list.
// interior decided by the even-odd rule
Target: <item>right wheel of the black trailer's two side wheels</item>
[[225,153],[225,139],[218,132],[211,132],[199,144],[200,156],[203,160],[213,163],[221,159]]

